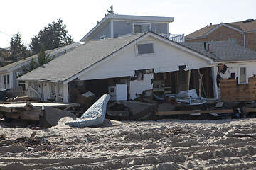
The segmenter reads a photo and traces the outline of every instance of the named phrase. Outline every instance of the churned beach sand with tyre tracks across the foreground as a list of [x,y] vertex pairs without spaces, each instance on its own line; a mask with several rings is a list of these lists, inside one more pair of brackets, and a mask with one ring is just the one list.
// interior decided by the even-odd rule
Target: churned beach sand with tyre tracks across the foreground
[[[105,120],[71,128],[63,118],[36,137],[50,145],[0,147],[0,169],[256,169],[256,119]],[[29,137],[29,128],[0,128],[8,139]]]

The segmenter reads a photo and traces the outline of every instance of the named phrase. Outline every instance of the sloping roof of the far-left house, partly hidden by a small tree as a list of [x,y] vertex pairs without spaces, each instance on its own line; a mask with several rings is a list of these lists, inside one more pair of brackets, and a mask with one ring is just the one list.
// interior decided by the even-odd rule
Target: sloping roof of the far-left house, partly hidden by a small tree
[[[55,57],[59,57],[60,55],[63,55],[65,51],[73,50],[75,47],[80,46],[81,44],[78,42],[74,42],[70,45],[66,45],[63,47],[59,47],[53,50],[47,50],[46,54],[50,52],[50,56],[55,55]],[[17,62],[13,62],[11,64],[8,64],[4,67],[0,67],[0,73],[1,72],[10,72],[13,69],[16,69],[17,67],[24,66],[26,64],[29,64],[31,62],[31,59],[37,59],[38,55],[32,55],[31,57],[27,57],[25,59],[18,60]]]

